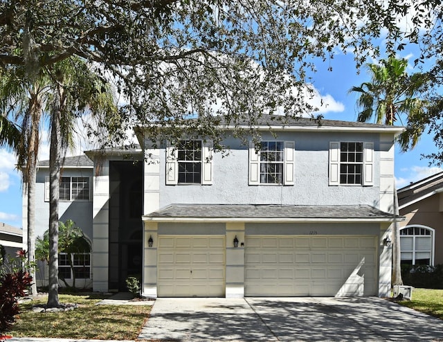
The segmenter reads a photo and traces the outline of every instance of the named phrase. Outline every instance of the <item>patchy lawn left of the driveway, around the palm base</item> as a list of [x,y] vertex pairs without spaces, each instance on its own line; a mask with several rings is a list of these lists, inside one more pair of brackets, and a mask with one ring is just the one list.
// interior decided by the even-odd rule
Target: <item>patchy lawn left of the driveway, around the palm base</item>
[[60,339],[135,340],[140,334],[149,305],[96,305],[105,298],[60,294],[60,303],[76,303],[68,312],[34,313],[33,305],[46,304],[47,296],[20,305],[21,313],[8,334],[15,337]]

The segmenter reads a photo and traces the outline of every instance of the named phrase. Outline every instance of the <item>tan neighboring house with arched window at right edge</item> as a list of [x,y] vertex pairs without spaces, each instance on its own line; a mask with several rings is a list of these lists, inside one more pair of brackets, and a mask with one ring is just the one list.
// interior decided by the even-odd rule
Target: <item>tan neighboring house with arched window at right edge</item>
[[397,190],[401,263],[443,264],[443,172]]

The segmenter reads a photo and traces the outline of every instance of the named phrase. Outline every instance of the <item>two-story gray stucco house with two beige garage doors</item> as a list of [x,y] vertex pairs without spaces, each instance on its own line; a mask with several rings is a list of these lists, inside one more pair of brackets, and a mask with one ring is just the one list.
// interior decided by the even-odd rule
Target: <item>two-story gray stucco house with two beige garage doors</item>
[[[205,137],[154,147],[143,129],[141,149],[86,152],[93,290],[138,275],[153,298],[388,296],[402,128],[267,122],[257,146],[227,134],[223,155]],[[75,221],[74,204],[62,215]]]

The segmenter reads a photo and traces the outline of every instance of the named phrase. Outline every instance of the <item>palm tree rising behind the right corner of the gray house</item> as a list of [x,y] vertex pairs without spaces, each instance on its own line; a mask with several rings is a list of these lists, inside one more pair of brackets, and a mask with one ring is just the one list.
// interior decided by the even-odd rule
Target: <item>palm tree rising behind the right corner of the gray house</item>
[[[370,82],[363,82],[359,87],[352,87],[349,91],[359,95],[356,102],[356,107],[360,109],[358,121],[365,122],[372,119],[375,123],[386,125],[395,125],[400,121],[401,125],[406,125],[408,118],[424,115],[426,102],[418,95],[426,77],[421,73],[408,75],[407,67],[407,60],[392,56],[388,60],[381,60],[381,64],[368,64],[371,73]],[[401,134],[398,138],[401,149],[406,151],[415,147],[422,132],[423,127]],[[399,215],[397,190],[394,191],[394,213]],[[397,221],[394,223],[392,240],[392,285],[403,285]]]

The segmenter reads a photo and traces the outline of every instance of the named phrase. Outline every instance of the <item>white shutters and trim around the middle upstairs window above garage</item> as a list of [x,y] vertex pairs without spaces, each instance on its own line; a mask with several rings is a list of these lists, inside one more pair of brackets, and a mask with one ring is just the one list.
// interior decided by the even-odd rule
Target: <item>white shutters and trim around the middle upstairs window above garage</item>
[[[268,140],[266,140],[268,141]],[[283,141],[284,157],[283,157],[283,184],[284,186],[293,186],[295,161],[294,154],[296,144],[294,141]],[[250,186],[275,186],[272,183],[260,183],[260,151],[255,150],[255,143],[249,141],[249,177],[248,184]]]

